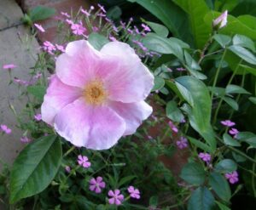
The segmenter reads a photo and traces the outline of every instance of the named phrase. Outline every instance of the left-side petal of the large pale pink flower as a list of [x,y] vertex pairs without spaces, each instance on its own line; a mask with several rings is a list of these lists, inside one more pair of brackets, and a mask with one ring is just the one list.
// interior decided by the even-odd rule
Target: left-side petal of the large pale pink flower
[[82,94],[82,89],[67,86],[58,77],[51,77],[49,88],[44,95],[44,103],[41,107],[42,119],[53,125],[55,115],[65,105],[72,103]]

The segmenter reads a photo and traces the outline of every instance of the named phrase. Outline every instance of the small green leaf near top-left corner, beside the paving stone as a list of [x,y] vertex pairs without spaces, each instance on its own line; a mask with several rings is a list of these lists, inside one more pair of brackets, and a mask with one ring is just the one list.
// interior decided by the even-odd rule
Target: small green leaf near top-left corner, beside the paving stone
[[55,9],[44,6],[37,6],[29,11],[29,17],[31,18],[32,22],[48,19],[54,14]]

